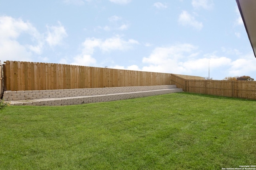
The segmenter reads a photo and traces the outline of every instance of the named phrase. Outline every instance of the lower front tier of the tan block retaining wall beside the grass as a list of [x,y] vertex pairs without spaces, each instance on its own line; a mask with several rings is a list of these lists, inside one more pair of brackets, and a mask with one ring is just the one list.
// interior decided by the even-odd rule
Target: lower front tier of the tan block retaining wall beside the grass
[[[166,86],[165,86],[166,87]],[[111,94],[98,94],[90,96],[71,96],[63,98],[41,98],[34,100],[16,100],[10,101],[11,105],[29,105],[29,106],[63,106],[63,105],[75,105],[75,104],[87,104],[95,102],[110,102],[115,100],[125,100],[131,98],[141,98],[147,96],[156,96],[162,94],[170,94],[182,92],[182,89],[171,86],[171,88],[135,91],[135,92],[121,92]]]

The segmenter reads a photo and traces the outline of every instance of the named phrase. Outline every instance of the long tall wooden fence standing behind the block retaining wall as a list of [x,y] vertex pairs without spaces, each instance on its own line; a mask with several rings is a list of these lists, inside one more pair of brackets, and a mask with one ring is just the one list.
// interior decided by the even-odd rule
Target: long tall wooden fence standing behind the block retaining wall
[[169,85],[170,74],[53,63],[4,62],[4,90]]

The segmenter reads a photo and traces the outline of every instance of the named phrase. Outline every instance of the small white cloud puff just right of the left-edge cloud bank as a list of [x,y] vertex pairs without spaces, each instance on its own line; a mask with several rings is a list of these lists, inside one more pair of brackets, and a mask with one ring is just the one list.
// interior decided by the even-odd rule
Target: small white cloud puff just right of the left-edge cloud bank
[[62,40],[68,36],[65,28],[58,22],[58,26],[47,26],[48,32],[46,37],[46,42],[50,45],[50,47],[61,45]]

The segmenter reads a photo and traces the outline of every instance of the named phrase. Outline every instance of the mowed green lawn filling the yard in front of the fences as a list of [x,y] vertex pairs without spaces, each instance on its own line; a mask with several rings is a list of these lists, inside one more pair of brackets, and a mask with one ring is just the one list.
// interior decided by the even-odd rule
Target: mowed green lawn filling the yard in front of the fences
[[255,164],[256,101],[176,93],[0,111],[1,170],[218,170]]

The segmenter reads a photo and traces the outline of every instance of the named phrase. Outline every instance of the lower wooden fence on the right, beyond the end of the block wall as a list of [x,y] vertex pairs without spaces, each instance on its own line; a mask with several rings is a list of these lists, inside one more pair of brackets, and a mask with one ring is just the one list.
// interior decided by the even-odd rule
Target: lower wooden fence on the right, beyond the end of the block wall
[[171,84],[182,88],[184,92],[247,98],[256,100],[256,81],[195,80],[194,76],[186,79],[178,74],[171,74]]

